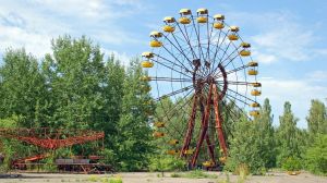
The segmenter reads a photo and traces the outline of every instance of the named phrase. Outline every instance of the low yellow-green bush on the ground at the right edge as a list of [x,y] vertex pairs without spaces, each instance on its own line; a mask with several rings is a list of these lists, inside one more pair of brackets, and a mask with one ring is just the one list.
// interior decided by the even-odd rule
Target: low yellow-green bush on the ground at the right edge
[[312,173],[327,175],[327,134],[315,137],[306,150],[305,159]]

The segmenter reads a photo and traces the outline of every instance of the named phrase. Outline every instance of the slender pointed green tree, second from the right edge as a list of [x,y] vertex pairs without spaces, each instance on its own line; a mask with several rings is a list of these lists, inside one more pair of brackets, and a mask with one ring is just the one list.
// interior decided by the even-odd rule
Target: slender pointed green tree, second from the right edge
[[280,125],[277,130],[277,164],[288,158],[301,158],[301,131],[296,127],[296,119],[291,110],[291,103],[287,101],[283,106],[283,114],[279,117]]

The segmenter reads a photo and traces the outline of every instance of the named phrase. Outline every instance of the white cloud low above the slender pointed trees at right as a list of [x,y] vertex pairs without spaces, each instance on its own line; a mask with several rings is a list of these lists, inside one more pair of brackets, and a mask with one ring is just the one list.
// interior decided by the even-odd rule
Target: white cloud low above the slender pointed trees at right
[[307,80],[277,80],[262,77],[263,96],[269,98],[275,114],[275,124],[279,124],[278,117],[282,114],[284,101],[290,101],[294,114],[300,119],[298,125],[306,127],[305,117],[312,99],[326,98],[326,86],[317,86]]

